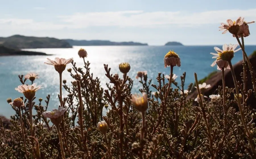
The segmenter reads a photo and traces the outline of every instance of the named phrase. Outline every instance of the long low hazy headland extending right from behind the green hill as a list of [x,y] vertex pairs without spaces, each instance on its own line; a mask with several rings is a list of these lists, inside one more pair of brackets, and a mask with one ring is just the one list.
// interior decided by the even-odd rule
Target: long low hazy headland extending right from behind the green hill
[[129,42],[113,42],[108,40],[73,40],[63,39],[72,46],[148,46],[147,43]]

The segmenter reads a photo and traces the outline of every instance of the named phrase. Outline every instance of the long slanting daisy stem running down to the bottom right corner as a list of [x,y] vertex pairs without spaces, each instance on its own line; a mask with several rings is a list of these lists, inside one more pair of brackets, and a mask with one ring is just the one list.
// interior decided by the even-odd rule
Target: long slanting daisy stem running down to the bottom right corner
[[250,137],[251,136],[250,135],[250,130],[247,127],[247,124],[245,122],[245,117],[244,117],[244,114],[243,114],[243,108],[241,106],[241,101],[240,101],[240,97],[239,97],[239,90],[238,90],[238,84],[237,84],[237,81],[236,81],[236,75],[235,75],[235,72],[234,72],[234,69],[233,69],[231,61],[228,61],[228,64],[230,66],[230,70],[231,70],[231,73],[232,73],[232,76],[233,76],[233,81],[234,81],[234,85],[235,85],[235,89],[236,89],[236,96],[237,96],[237,102],[238,102],[239,112],[240,112],[240,116],[241,116],[241,121],[242,121],[242,124],[243,124],[243,126],[245,128],[245,133],[246,133],[246,135],[247,135],[247,137],[249,139],[252,152],[255,154],[255,149],[254,149],[253,141],[252,141],[252,138]]

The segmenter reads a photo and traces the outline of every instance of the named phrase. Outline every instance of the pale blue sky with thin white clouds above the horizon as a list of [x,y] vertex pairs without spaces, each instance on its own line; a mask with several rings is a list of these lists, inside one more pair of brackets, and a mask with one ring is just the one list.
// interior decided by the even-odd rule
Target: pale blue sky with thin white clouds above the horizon
[[[256,21],[255,0],[0,0],[0,37],[19,34],[164,45],[236,43],[220,23]],[[245,44],[256,44],[256,23]]]

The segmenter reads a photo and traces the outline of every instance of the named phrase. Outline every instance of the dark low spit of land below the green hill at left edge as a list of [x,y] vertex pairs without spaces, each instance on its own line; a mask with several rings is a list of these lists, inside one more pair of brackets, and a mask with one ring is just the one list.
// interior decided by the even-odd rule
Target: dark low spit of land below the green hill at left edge
[[24,51],[17,50],[13,48],[7,48],[3,45],[0,45],[0,56],[18,56],[18,55],[49,55],[43,52],[35,52],[35,51]]

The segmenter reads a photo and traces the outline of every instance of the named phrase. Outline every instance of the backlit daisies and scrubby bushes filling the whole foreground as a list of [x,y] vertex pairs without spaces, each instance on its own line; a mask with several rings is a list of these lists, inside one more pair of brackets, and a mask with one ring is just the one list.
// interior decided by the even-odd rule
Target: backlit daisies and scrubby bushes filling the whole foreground
[[[133,67],[129,63],[116,66],[119,75],[104,64],[109,80],[104,89],[100,79],[90,72],[90,62],[85,60],[87,51],[81,48],[78,56],[83,59],[82,68],[72,58],[47,59],[46,64],[54,66],[59,75],[59,107],[52,111],[48,111],[50,95],[45,103],[42,98],[35,100],[36,92],[43,88],[34,83],[38,75],[18,76],[21,85],[15,90],[24,97],[7,99],[15,115],[9,125],[0,119],[0,158],[256,158],[256,115],[246,104],[256,92],[255,71],[239,39],[249,35],[249,23],[241,17],[227,23],[220,28],[238,40],[244,63],[254,77],[253,89],[245,86],[247,74],[242,74],[242,84],[236,81],[231,63],[234,52],[239,50],[236,44],[224,44],[222,50],[215,47],[217,53],[211,53],[216,58],[212,66],[217,64],[223,78],[216,94],[205,96],[212,85],[199,83],[195,73],[195,99],[188,97],[192,84],[184,88],[186,73],[180,79],[174,74],[173,68],[181,66],[174,50],[163,57],[163,67],[170,66],[170,74],[159,73],[157,83],[151,84],[146,71],[136,70],[135,80],[142,88],[139,94],[132,94],[129,71]],[[72,81],[62,77],[68,64],[72,65],[67,68]],[[224,71],[231,71],[235,88],[225,86]],[[27,79],[31,85],[26,84]],[[68,92],[65,97],[62,88]]]

